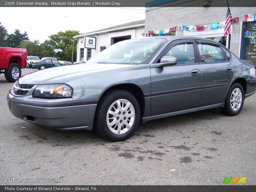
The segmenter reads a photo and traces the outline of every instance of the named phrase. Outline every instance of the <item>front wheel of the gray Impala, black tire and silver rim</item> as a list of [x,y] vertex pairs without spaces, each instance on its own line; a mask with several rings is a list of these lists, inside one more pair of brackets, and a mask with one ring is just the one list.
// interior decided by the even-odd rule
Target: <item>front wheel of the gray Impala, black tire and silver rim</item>
[[[109,111],[112,111],[111,114]],[[116,89],[106,93],[100,100],[93,130],[103,139],[122,141],[132,136],[139,123],[140,105],[137,99],[130,92]]]

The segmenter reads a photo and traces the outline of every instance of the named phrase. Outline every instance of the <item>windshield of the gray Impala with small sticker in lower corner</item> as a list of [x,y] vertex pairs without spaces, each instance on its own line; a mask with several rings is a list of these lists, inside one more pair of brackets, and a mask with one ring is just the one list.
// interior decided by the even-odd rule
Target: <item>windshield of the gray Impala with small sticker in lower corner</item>
[[145,64],[165,39],[133,39],[118,42],[86,63]]

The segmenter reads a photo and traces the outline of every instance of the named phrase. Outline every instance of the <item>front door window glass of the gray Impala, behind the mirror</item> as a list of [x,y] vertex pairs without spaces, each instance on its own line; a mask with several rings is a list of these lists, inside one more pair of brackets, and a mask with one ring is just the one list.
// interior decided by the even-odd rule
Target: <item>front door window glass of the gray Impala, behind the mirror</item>
[[177,65],[195,63],[193,43],[176,44],[165,55],[176,57]]

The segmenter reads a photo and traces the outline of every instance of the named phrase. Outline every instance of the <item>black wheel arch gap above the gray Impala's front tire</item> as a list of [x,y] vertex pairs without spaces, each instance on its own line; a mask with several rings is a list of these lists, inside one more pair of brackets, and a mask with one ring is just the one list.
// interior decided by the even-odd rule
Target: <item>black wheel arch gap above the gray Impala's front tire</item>
[[[111,90],[114,90],[114,89],[121,89],[121,90],[125,90],[125,91],[132,93],[132,95],[139,102],[141,117],[144,115],[144,110],[145,110],[144,93],[142,92],[141,88],[136,84],[124,83],[124,84],[112,85],[112,86],[108,87],[108,89],[106,89],[105,91],[102,92],[102,94],[100,95],[99,101],[102,99],[104,94],[106,94],[107,92],[110,92]],[[98,106],[97,106],[97,108],[98,108]],[[97,108],[96,108],[96,111],[97,111]]]

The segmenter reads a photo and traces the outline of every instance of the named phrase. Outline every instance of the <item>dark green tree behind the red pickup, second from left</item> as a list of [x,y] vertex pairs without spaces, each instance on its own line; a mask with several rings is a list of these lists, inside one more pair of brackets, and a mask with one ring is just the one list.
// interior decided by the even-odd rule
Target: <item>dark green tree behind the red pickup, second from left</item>
[[9,47],[18,47],[25,41],[29,41],[28,34],[26,31],[24,33],[20,33],[19,29],[15,29],[14,33],[7,36],[7,43]]

